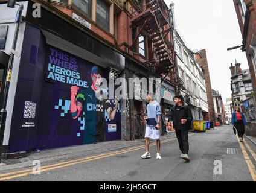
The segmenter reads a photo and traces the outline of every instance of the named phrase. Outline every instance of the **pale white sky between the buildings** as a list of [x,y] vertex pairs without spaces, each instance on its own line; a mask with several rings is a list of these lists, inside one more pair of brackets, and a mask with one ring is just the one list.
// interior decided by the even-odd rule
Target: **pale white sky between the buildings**
[[242,34],[232,0],[165,0],[174,2],[176,27],[191,50],[206,49],[211,87],[222,95],[223,103],[231,97],[229,66],[241,63],[249,69],[245,52],[240,49]]

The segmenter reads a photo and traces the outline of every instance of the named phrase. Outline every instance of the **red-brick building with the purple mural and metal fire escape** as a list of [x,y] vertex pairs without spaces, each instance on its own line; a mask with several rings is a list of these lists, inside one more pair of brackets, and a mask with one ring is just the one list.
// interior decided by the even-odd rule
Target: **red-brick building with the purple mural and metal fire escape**
[[[0,30],[6,35],[0,62],[5,68],[7,63],[2,61],[11,50],[18,6],[7,8],[7,1],[0,2]],[[143,138],[146,100],[141,95],[148,89],[142,90],[141,82],[134,83],[139,93],[135,98],[120,98],[117,107],[114,98],[97,99],[96,104],[91,88],[99,72],[108,81],[122,77],[127,83],[129,78],[162,78],[160,91],[153,91],[162,95],[162,103],[173,105],[179,77],[174,65],[172,12],[163,0],[18,3],[24,4],[17,44],[21,57],[14,59],[8,93],[7,124],[2,130],[5,153]],[[34,16],[34,5],[40,5],[40,16]],[[79,87],[75,97],[72,86]],[[83,107],[80,114],[71,111],[77,100]],[[117,108],[114,118],[107,113],[109,107]],[[103,138],[94,139],[95,132]]]

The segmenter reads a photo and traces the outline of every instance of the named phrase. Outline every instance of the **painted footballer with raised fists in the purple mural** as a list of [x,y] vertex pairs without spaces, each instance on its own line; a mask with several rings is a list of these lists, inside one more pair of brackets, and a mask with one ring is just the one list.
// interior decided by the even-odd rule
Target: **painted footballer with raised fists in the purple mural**
[[98,66],[91,70],[92,85],[86,89],[77,86],[71,87],[70,111],[73,119],[77,119],[80,113],[85,113],[85,134],[83,144],[106,141],[105,110],[109,118],[113,120],[117,113],[119,100],[115,99],[115,107],[112,109],[110,100],[97,97],[97,93],[106,92],[101,88],[102,73]]

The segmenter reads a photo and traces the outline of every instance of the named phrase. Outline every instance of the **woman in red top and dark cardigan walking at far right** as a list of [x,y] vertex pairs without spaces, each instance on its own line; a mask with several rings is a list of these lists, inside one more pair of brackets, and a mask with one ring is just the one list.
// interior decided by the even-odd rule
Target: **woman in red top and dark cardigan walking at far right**
[[245,134],[245,125],[247,124],[245,115],[241,113],[240,107],[235,107],[235,112],[232,113],[232,125],[234,132],[237,130],[240,142],[243,141],[243,135]]

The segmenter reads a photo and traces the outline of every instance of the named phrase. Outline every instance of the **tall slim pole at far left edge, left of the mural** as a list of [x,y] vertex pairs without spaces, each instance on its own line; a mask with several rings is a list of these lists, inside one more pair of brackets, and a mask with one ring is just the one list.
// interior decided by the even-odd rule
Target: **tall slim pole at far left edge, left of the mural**
[[16,0],[8,0],[7,2],[7,7],[14,8],[15,5],[19,6],[19,10],[16,14],[15,18],[15,23],[16,23],[16,28],[15,28],[15,33],[14,33],[14,39],[13,39],[13,46],[11,49],[11,54],[10,54],[10,60],[8,62],[7,66],[7,78],[5,80],[4,84],[4,94],[2,95],[2,109],[0,111],[0,163],[1,163],[1,157],[2,157],[2,142],[4,138],[4,128],[5,128],[5,122],[7,118],[7,96],[8,96],[8,91],[10,87],[10,81],[11,81],[11,71],[13,69],[13,61],[14,61],[14,53],[16,52],[16,45],[17,45],[17,40],[18,40],[18,34],[19,34],[19,26],[21,24],[21,17],[22,17],[22,10],[24,8],[24,5],[21,4],[16,4]]

